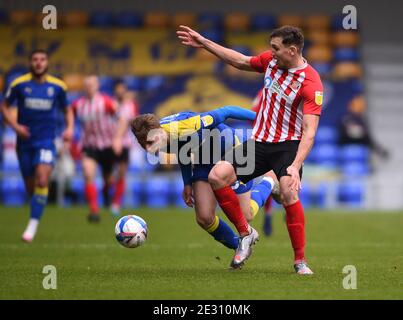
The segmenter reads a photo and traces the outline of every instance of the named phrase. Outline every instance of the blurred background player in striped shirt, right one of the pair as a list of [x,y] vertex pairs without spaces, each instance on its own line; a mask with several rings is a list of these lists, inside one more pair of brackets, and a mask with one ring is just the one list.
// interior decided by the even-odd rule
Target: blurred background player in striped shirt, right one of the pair
[[116,134],[112,142],[112,148],[116,155],[117,172],[111,213],[119,216],[125,193],[125,175],[129,166],[129,152],[133,142],[130,132],[130,122],[137,116],[139,111],[134,92],[128,91],[123,81],[115,83],[114,100],[118,108],[118,117],[116,119]]

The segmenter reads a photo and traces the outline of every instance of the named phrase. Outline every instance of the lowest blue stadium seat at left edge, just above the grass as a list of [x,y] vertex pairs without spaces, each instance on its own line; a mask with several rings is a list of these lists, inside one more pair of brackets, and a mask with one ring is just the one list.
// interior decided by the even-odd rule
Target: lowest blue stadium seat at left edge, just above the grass
[[5,206],[22,206],[27,200],[24,181],[21,177],[3,177],[0,193]]

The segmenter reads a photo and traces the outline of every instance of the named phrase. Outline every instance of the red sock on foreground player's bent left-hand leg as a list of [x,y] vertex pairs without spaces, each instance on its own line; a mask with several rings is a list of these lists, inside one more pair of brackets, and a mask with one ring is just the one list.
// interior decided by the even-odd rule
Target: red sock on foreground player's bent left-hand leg
[[239,199],[230,186],[214,190],[215,197],[228,219],[241,236],[249,234],[249,224],[242,213]]

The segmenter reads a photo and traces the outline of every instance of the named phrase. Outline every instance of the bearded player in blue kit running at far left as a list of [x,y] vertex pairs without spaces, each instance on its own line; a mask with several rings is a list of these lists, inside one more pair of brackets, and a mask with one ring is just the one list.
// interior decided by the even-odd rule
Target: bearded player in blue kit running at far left
[[[66,100],[63,81],[48,74],[48,55],[34,50],[29,56],[30,72],[16,78],[6,93],[2,105],[5,121],[17,133],[17,156],[25,188],[31,197],[30,220],[22,239],[32,242],[44,212],[49,177],[55,163],[57,112],[65,113],[66,129],[62,136],[73,136],[73,115]],[[17,119],[9,109],[16,103]]]

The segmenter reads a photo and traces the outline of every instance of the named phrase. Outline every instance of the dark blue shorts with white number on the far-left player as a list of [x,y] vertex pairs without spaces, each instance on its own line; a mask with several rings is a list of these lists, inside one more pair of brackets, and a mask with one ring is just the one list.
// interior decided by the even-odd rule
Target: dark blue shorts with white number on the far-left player
[[32,177],[38,164],[54,166],[56,160],[56,147],[53,142],[46,142],[35,146],[18,146],[18,162],[22,176]]

